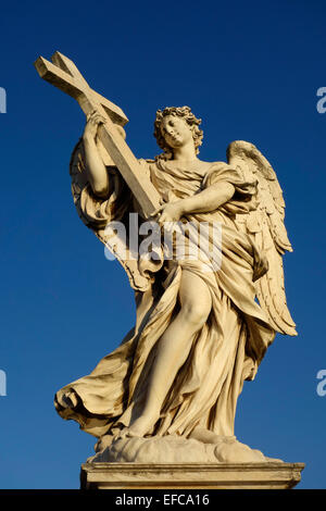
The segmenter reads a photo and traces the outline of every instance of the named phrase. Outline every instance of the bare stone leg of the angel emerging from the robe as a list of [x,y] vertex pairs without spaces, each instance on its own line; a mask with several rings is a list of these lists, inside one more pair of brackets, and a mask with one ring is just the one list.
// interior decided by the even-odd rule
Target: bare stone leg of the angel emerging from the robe
[[193,335],[208,320],[212,308],[210,290],[199,276],[187,270],[181,275],[179,301],[179,313],[158,341],[142,413],[121,436],[143,436],[155,424],[174,378],[188,358]]

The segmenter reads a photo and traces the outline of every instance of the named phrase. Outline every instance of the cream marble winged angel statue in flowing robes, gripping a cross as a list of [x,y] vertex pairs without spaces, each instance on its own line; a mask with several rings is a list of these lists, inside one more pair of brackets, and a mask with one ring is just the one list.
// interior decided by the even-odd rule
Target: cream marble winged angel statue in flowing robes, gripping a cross
[[[101,150],[103,122],[97,112],[88,116],[71,175],[79,216],[105,242],[105,226],[126,223],[139,208]],[[55,395],[60,415],[99,439],[96,460],[267,460],[237,441],[234,423],[243,382],[254,378],[276,333],[297,335],[284,287],[283,256],[291,251],[285,202],[252,144],[231,142],[227,163],[201,161],[200,123],[188,107],[159,110],[163,153],[142,164],[161,196],[161,226],[222,225],[221,265],[208,272],[200,258],[121,261],[135,289],[135,328]],[[189,443],[190,450],[176,448]]]

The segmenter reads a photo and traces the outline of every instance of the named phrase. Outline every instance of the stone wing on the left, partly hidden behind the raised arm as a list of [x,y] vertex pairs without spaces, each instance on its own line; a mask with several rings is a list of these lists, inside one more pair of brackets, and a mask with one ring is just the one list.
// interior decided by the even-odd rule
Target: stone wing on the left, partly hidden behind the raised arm
[[[101,142],[98,141],[98,150],[102,157],[104,164],[106,165],[108,172],[111,173],[110,175],[110,199],[111,205],[113,210],[115,210],[115,220],[123,219],[124,214],[127,211],[127,201],[121,204],[117,204],[117,198],[121,194],[123,194],[122,187],[124,183],[113,167],[113,162],[110,160],[109,154],[101,146]],[[108,225],[103,223],[101,224],[92,224],[87,215],[85,215],[83,208],[82,208],[82,191],[87,186],[87,175],[86,175],[86,167],[85,167],[85,152],[84,152],[84,144],[80,139],[76,145],[70,163],[70,174],[72,178],[72,194],[74,198],[74,203],[77,210],[77,213],[82,221],[84,222],[87,227],[91,228],[96,236],[104,244],[104,246],[114,254],[117,261],[122,264],[127,276],[129,278],[130,286],[138,291],[146,291],[150,285],[149,276],[143,276],[140,274],[138,269],[138,261],[130,256],[129,248],[126,244],[126,239],[122,237],[118,239],[118,236],[114,229],[108,228]],[[111,165],[111,171],[110,171]],[[117,211],[116,211],[117,210]],[[114,245],[110,242],[110,238],[114,238]],[[124,257],[122,257],[124,254]]]

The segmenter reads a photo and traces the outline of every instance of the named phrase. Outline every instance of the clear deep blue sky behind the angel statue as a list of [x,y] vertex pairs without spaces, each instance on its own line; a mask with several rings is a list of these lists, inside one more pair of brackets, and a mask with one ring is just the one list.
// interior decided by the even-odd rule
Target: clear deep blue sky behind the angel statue
[[53,408],[134,324],[127,277],[79,221],[68,161],[82,134],[77,103],[33,62],[55,50],[123,108],[137,157],[158,153],[158,108],[188,104],[203,120],[201,158],[243,139],[271,161],[285,191],[294,252],[286,289],[299,337],[277,336],[239,399],[237,437],[305,462],[299,488],[326,488],[326,86],[323,1],[7,2],[1,10],[0,487],[77,488],[96,439]]

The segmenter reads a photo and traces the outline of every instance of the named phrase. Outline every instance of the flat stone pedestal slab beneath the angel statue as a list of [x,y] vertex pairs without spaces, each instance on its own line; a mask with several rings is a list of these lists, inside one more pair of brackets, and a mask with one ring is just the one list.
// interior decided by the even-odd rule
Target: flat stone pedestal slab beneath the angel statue
[[288,489],[304,463],[84,463],[82,489]]

